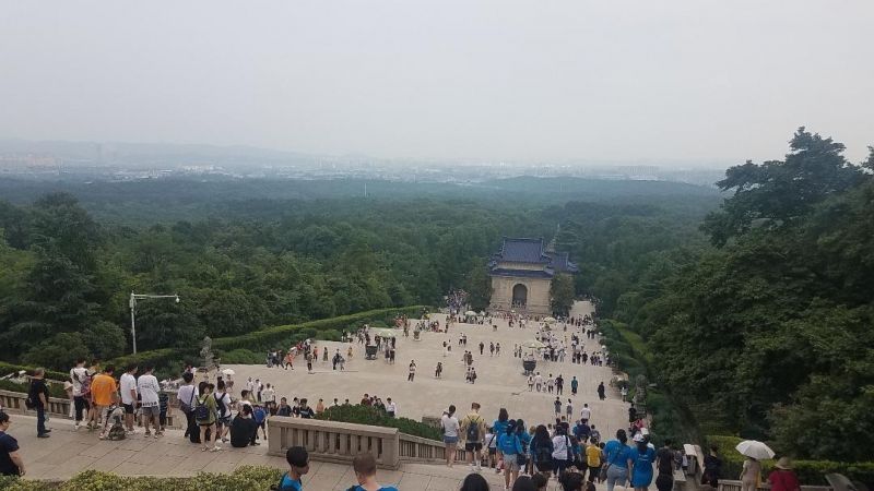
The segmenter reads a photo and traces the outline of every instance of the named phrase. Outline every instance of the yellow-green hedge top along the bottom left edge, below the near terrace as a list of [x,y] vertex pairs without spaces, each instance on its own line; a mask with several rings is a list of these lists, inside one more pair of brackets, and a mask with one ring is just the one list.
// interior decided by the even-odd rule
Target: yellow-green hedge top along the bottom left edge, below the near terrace
[[23,480],[0,476],[7,491],[202,491],[270,489],[279,483],[284,469],[241,466],[232,474],[201,472],[194,478],[122,477],[86,470],[62,483]]

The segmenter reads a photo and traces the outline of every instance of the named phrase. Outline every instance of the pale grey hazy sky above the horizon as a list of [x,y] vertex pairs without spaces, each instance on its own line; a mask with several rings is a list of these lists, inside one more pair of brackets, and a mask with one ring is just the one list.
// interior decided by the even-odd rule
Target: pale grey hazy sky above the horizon
[[0,0],[0,136],[511,160],[874,144],[874,1]]

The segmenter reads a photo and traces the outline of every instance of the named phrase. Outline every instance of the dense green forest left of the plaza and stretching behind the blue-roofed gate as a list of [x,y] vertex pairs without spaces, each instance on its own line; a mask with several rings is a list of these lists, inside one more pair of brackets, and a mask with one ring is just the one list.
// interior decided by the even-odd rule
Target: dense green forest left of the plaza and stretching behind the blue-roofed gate
[[[683,184],[656,184],[648,195],[647,183],[606,182],[609,199],[577,196],[600,203],[555,205],[546,196],[556,181],[532,182],[530,193],[513,191],[504,200],[462,188],[449,197],[319,200],[239,200],[234,190],[199,201],[202,190],[186,194],[181,185],[167,191],[144,182],[129,188],[127,197],[96,193],[79,201],[55,192],[29,204],[0,203],[0,356],[62,369],[78,356],[128,352],[132,290],[181,299],[138,303],[140,350],[190,348],[204,335],[369,309],[440,304],[458,287],[470,290],[473,307],[482,309],[488,299],[486,261],[501,236],[550,239],[559,224],[598,224],[599,236],[609,231],[599,240],[624,249],[635,242],[636,227],[647,224],[698,233],[685,224],[718,203],[707,189],[697,189],[692,200],[684,195],[690,187]],[[339,185],[342,194],[346,184]],[[609,204],[616,200],[635,204]],[[186,220],[157,214],[175,202],[198,212]],[[107,208],[115,209],[115,219],[104,215]],[[153,220],[142,224],[147,217]],[[614,229],[625,223],[627,228]],[[630,252],[674,243],[656,240]],[[580,292],[623,260],[603,252],[581,250],[587,273]]]

